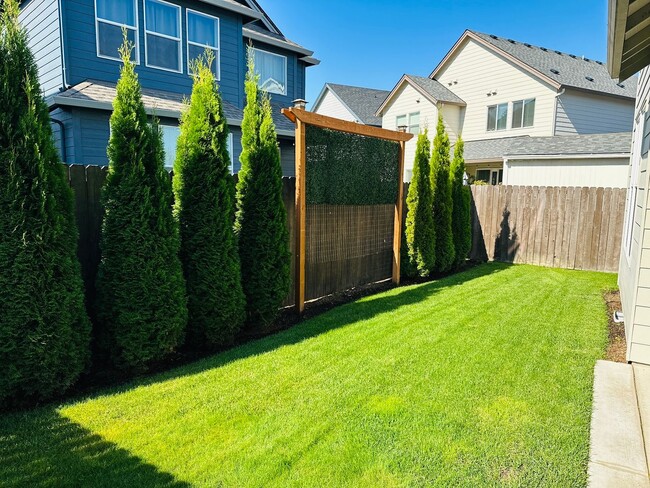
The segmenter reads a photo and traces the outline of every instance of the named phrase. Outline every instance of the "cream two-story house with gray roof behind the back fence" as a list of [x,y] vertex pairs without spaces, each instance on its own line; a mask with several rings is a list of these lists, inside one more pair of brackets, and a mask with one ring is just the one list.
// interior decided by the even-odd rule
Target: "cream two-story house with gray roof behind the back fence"
[[[423,96],[416,85],[425,84],[435,87],[439,97]],[[440,96],[443,89],[451,95]],[[564,138],[612,134],[602,141],[608,151],[612,144],[629,146],[635,93],[635,78],[612,80],[601,62],[468,30],[429,78],[404,76],[377,115],[384,128],[395,129],[404,115],[410,125],[410,114],[420,114],[432,127],[442,110],[450,139],[462,134],[466,142],[470,179],[617,187],[625,179],[629,149],[589,152],[586,139],[570,144]],[[512,140],[523,137],[533,139],[528,144],[550,145],[553,153],[518,148],[512,154],[517,158],[507,158]],[[407,152],[407,168],[412,159],[413,153]],[[591,171],[602,176],[594,179]]]

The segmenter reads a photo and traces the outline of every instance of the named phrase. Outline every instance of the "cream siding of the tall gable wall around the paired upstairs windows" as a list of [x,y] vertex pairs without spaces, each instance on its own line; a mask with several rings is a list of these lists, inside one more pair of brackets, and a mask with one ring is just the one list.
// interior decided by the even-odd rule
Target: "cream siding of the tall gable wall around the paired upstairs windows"
[[[467,103],[463,123],[466,141],[553,135],[556,89],[473,39],[465,41],[436,79]],[[493,91],[496,95],[487,95]],[[488,106],[528,98],[535,99],[533,127],[511,129],[510,104],[508,129],[487,130]]]

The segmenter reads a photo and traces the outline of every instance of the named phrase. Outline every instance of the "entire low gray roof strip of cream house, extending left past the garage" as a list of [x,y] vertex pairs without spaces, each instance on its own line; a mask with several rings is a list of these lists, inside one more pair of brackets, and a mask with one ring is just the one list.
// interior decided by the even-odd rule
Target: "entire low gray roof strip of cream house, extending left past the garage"
[[585,156],[628,154],[630,132],[583,134],[573,136],[516,136],[465,142],[465,161],[501,161],[503,158],[528,159],[524,156]]

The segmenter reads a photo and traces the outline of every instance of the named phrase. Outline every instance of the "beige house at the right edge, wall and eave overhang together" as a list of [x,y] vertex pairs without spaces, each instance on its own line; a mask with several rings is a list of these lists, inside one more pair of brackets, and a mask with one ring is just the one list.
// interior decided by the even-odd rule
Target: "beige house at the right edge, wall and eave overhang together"
[[650,364],[650,24],[644,13],[647,7],[647,1],[610,0],[607,64],[611,75],[621,79],[642,70],[634,110],[618,283],[625,316],[627,359]]

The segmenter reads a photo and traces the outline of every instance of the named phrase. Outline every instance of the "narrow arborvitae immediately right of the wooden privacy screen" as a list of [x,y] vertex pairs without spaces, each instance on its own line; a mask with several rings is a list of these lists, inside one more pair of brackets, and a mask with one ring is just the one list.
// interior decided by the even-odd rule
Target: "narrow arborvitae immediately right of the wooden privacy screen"
[[435,266],[436,235],[433,223],[433,194],[429,158],[431,142],[428,131],[418,136],[413,163],[413,177],[406,197],[406,242],[411,266],[419,276],[427,276]]

